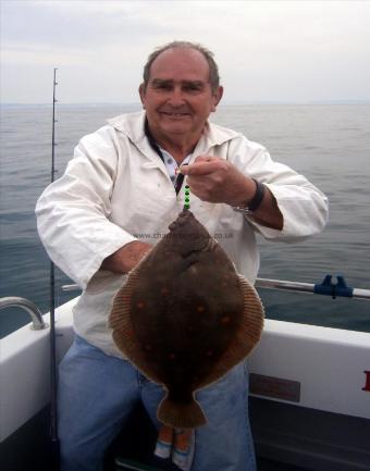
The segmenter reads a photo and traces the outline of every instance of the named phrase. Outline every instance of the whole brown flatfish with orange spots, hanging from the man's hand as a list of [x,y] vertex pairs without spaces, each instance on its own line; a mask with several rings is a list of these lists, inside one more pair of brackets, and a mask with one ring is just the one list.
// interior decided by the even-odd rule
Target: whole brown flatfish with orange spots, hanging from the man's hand
[[110,326],[118,348],[166,395],[158,419],[195,427],[206,417],[195,392],[215,382],[258,343],[263,308],[205,226],[184,209],[128,274]]

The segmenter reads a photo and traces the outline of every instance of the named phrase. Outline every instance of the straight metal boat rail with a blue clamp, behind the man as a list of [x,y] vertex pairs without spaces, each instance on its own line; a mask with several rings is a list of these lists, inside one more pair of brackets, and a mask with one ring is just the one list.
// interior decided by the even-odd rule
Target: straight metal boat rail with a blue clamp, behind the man
[[[322,283],[299,283],[284,280],[257,278],[256,288],[280,289],[296,293],[310,293],[314,295],[326,295],[333,299],[336,297],[368,299],[370,300],[370,289],[353,288],[348,286],[344,276],[337,275],[336,283],[333,282],[332,275],[326,275]],[[74,292],[81,289],[76,284],[63,285],[63,292]]]

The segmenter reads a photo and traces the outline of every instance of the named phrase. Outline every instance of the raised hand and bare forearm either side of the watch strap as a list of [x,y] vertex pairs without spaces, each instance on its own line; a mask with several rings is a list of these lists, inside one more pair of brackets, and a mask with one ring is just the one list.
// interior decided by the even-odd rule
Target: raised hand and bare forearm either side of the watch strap
[[[252,178],[219,157],[199,156],[194,163],[182,165],[180,171],[187,175],[192,193],[202,201],[245,206],[256,193]],[[284,225],[283,214],[269,188],[266,188],[263,200],[250,216],[259,224],[279,231]]]

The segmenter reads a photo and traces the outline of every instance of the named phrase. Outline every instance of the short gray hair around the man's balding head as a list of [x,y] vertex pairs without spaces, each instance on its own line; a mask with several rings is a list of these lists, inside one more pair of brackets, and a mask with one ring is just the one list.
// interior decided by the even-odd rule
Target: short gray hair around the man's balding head
[[209,65],[209,82],[211,84],[211,88],[214,91],[220,86],[220,75],[219,75],[219,67],[213,59],[213,52],[211,52],[209,49],[205,48],[203,46],[190,42],[190,41],[172,41],[164,46],[161,46],[148,57],[147,63],[144,66],[144,86],[147,88],[149,83],[149,76],[150,76],[150,67],[151,64],[155,62],[155,60],[158,58],[159,54],[166,51],[168,49],[174,49],[174,48],[188,48],[194,49],[198,52],[200,52]]

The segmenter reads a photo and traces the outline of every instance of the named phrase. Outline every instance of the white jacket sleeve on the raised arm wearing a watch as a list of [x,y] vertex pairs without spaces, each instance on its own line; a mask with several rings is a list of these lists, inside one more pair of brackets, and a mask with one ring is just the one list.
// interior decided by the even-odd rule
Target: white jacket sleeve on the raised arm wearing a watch
[[257,224],[247,216],[266,238],[296,241],[323,230],[329,214],[328,198],[305,176],[274,162],[264,147],[246,138],[233,150],[233,156],[239,170],[269,187],[283,214],[282,231]]

